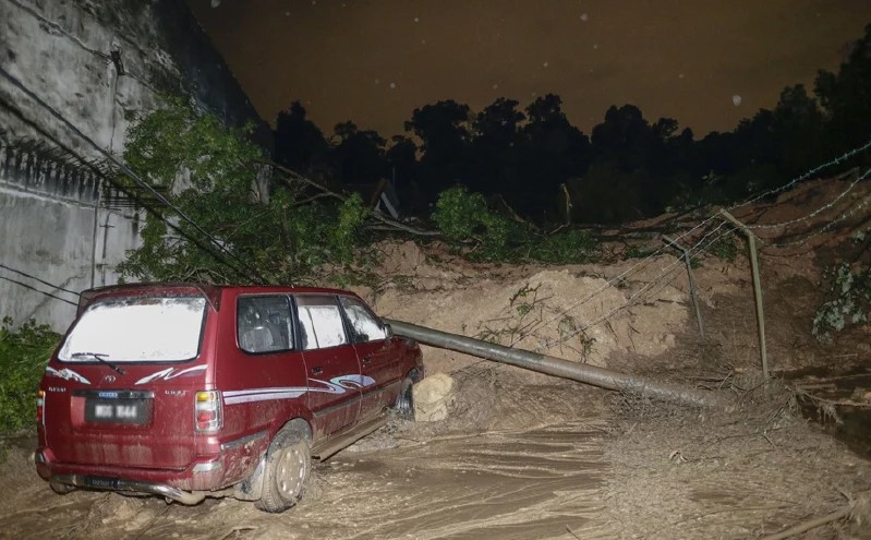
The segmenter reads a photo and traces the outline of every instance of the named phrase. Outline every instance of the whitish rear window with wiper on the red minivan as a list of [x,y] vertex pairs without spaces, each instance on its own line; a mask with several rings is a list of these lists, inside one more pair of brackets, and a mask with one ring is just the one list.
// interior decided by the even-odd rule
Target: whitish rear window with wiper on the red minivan
[[58,352],[64,362],[166,362],[199,351],[203,297],[112,298],[90,305]]

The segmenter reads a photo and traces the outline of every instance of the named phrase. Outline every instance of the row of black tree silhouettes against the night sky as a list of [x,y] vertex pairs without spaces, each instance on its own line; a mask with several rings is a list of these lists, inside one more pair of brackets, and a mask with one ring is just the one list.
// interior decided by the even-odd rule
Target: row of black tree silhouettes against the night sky
[[649,122],[634,105],[609,107],[588,137],[569,122],[559,96],[547,94],[523,110],[507,97],[476,113],[453,100],[426,105],[406,122],[409,135],[389,144],[343,122],[328,143],[295,101],[278,116],[276,158],[344,183],[392,178],[406,211],[420,217],[430,216],[441,191],[461,183],[500,195],[527,218],[553,220],[565,185],[576,221],[613,224],[728,204],[867,142],[871,25],[837,73],[819,72],[814,92],[787,86],[773,109],[699,141],[675,119]]

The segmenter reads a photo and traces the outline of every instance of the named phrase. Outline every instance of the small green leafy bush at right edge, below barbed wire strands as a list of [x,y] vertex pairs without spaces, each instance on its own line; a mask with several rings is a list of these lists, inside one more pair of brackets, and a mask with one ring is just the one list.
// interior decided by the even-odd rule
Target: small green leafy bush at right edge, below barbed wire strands
[[813,316],[813,335],[821,341],[830,341],[832,334],[849,324],[868,321],[871,308],[871,267],[851,268],[840,263],[826,272],[832,300],[823,303]]

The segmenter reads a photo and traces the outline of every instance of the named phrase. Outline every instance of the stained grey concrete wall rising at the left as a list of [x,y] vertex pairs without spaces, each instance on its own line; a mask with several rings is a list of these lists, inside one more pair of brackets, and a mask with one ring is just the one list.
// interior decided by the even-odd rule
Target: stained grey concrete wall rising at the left
[[[254,122],[269,151],[268,127],[182,1],[0,0],[0,67],[114,156],[162,94],[190,96],[229,124]],[[81,290],[117,283],[145,213],[107,170],[0,77],[0,316],[62,331]]]

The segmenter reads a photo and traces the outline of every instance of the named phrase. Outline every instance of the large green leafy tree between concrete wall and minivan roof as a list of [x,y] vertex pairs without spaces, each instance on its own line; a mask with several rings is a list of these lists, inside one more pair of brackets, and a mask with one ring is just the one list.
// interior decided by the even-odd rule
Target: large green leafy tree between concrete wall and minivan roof
[[122,276],[300,283],[353,261],[368,216],[362,199],[313,196],[310,187],[290,180],[269,184],[261,148],[249,133],[173,99],[137,119],[125,160],[149,183],[165,188],[172,205],[198,227],[171,207],[149,214],[142,245],[118,268]]

